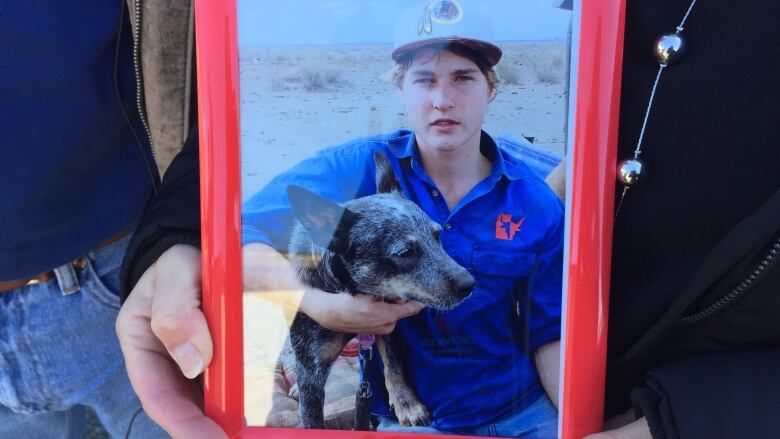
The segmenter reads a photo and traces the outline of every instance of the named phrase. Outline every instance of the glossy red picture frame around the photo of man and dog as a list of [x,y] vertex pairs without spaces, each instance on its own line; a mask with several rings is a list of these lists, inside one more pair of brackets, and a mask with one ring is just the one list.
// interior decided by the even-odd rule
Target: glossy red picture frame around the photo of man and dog
[[[564,330],[559,432],[600,431],[603,417],[623,0],[575,1],[567,171]],[[311,431],[244,423],[241,172],[236,1],[196,1],[203,309],[214,341],[205,412],[230,437],[304,438]],[[319,438],[397,434],[318,431]],[[405,435],[404,435],[405,436]],[[425,437],[414,435],[413,437]]]

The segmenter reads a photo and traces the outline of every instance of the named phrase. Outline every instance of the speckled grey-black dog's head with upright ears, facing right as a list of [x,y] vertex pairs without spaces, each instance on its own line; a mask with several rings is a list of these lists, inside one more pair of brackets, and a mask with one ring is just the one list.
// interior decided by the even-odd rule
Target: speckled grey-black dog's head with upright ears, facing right
[[[309,267],[304,277],[336,277],[353,293],[386,301],[453,308],[471,294],[474,278],[444,252],[441,226],[401,194],[387,158],[377,152],[374,162],[378,193],[343,205],[299,186],[288,187],[290,205],[301,224],[293,233],[291,253],[321,251],[309,255],[317,267]],[[298,265],[302,260],[291,258]],[[321,279],[317,283],[323,284]]]

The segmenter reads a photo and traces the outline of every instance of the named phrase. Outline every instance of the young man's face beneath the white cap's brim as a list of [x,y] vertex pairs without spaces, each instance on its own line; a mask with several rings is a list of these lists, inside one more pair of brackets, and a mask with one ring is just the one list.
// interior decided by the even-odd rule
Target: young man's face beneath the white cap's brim
[[420,49],[398,93],[421,149],[479,147],[491,89],[473,61],[446,49]]

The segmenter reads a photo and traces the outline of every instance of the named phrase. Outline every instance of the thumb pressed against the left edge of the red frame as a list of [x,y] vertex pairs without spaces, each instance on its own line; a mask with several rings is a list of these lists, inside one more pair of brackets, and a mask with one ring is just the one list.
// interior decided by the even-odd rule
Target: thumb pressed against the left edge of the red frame
[[152,332],[187,378],[211,362],[213,346],[200,310],[200,252],[174,246],[157,261],[152,300]]

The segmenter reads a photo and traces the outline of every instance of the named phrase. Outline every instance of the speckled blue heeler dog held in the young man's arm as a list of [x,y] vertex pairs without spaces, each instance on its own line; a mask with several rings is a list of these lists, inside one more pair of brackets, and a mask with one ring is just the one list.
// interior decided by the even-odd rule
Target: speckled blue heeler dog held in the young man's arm
[[[418,301],[451,309],[474,289],[474,278],[439,240],[441,226],[401,194],[387,158],[374,153],[377,194],[337,204],[299,186],[287,189],[298,222],[288,258],[298,278],[329,293],[367,294],[386,302]],[[298,313],[290,328],[297,359],[301,422],[325,428],[325,381],[355,334],[323,328]],[[385,383],[399,421],[427,425],[428,410],[406,384],[391,338],[377,338]]]

